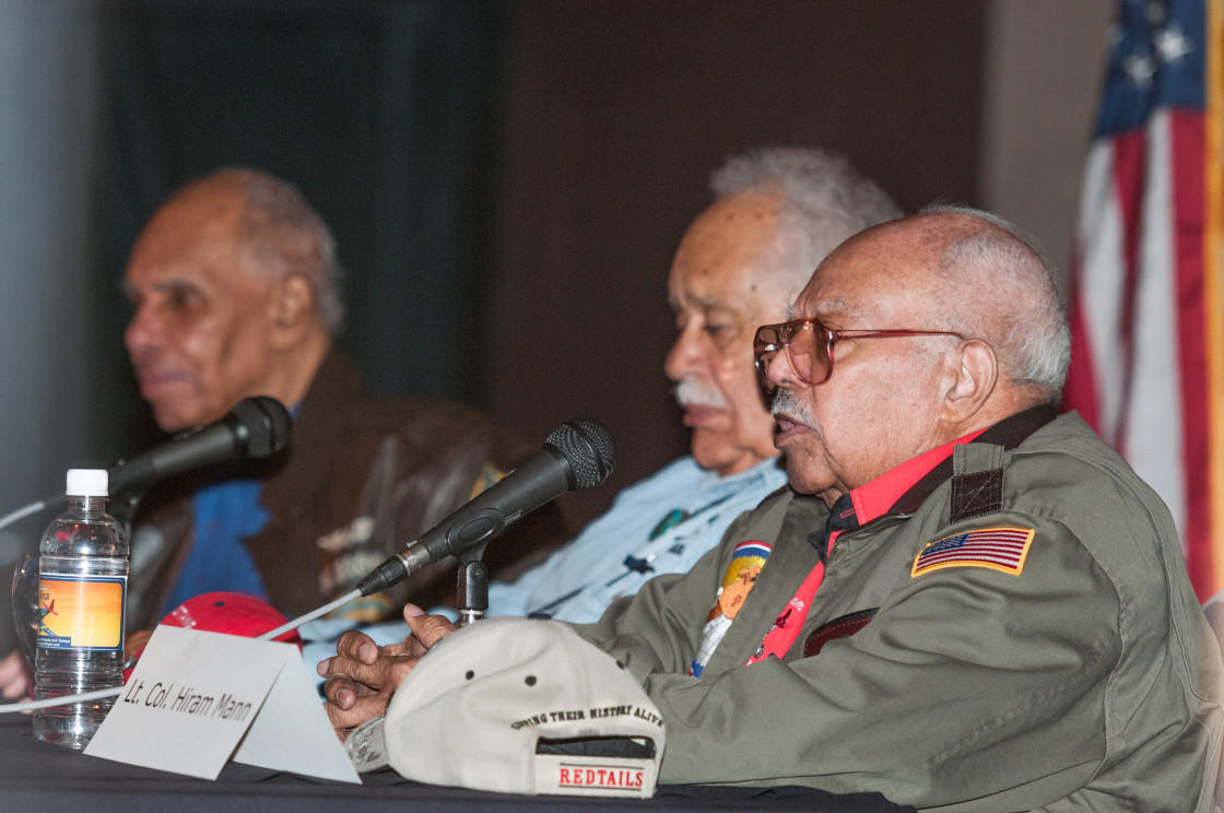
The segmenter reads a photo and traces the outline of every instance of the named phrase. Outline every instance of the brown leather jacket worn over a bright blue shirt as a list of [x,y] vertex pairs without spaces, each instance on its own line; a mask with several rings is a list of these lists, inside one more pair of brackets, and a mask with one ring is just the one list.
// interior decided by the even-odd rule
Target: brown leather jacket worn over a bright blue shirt
[[[271,518],[246,546],[271,602],[289,616],[351,590],[389,555],[404,550],[475,493],[539,449],[454,403],[377,398],[332,350],[294,419],[289,447],[267,462],[211,468],[154,489],[133,522],[129,629],[146,629],[193,539],[191,495],[223,476],[263,479]],[[491,578],[512,577],[568,539],[561,512],[545,507],[488,545]],[[393,589],[346,605],[364,621],[398,613],[405,600],[425,607],[454,591],[457,562],[432,564]]]

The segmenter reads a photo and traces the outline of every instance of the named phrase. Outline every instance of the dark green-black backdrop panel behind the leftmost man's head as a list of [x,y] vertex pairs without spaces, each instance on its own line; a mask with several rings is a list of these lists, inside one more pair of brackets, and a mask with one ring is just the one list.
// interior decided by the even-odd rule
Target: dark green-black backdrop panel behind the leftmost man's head
[[[129,309],[114,284],[152,212],[225,165],[295,184],[348,273],[340,343],[384,392],[477,399],[470,331],[492,273],[509,6],[481,0],[108,0],[97,142],[97,332]],[[458,339],[458,340],[457,340]],[[99,403],[146,415],[135,389]],[[147,415],[146,415],[147,418]],[[121,440],[152,442],[148,421]],[[114,449],[121,454],[125,447]]]

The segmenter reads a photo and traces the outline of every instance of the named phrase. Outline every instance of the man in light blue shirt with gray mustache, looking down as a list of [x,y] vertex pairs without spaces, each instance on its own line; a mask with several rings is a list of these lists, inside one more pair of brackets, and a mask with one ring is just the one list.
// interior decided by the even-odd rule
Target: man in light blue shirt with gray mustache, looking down
[[518,580],[493,583],[490,615],[597,621],[647,579],[688,572],[732,519],[786,485],[753,332],[785,318],[837,244],[901,212],[843,158],[818,149],[734,157],[711,186],[716,200],[684,233],[667,283],[676,342],[663,369],[693,430],[692,454],[624,489]]

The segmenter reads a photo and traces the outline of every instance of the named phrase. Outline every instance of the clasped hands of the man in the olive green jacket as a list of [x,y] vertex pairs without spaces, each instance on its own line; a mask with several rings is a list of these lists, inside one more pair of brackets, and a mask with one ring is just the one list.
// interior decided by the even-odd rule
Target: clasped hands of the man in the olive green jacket
[[395,687],[411,672],[433,644],[455,631],[444,616],[427,616],[415,604],[404,607],[411,634],[398,644],[378,646],[365,633],[350,629],[340,635],[335,656],[319,661],[326,677],[323,708],[340,740],[370,717],[387,710]]

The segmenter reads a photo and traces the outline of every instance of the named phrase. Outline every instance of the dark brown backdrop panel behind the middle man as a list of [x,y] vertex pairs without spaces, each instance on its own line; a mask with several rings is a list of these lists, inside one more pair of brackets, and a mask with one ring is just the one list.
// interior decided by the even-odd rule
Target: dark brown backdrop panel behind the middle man
[[984,11],[976,0],[517,4],[488,405],[540,436],[575,414],[605,421],[622,449],[613,489],[682,453],[662,373],[666,277],[710,201],[710,171],[753,147],[820,144],[907,209],[980,203]]

